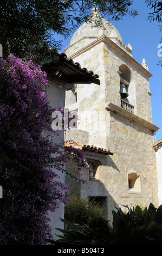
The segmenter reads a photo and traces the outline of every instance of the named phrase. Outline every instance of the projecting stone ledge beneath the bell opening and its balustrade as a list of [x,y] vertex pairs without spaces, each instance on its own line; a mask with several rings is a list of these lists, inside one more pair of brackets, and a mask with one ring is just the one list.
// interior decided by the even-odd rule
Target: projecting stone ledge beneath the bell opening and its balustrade
[[146,127],[147,129],[151,130],[151,131],[158,131],[159,127],[138,117],[137,115],[125,110],[122,107],[116,106],[115,104],[109,102],[108,106],[106,107],[106,109],[108,111],[112,111],[112,112],[116,112],[122,116],[124,116],[125,118],[128,118],[129,120],[134,121],[135,123],[138,123],[141,126]]

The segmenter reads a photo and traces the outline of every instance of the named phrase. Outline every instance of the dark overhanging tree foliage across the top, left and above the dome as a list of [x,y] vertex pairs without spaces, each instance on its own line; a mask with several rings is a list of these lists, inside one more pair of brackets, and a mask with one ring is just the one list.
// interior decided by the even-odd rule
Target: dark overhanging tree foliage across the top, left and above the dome
[[[130,0],[0,0],[0,43],[3,57],[15,54],[25,60],[34,56],[39,65],[57,59],[61,41],[83,21],[88,21],[92,8],[99,8],[108,19],[119,20],[124,15],[136,15]],[[51,49],[49,51],[49,48]],[[53,51],[54,50],[54,51]]]

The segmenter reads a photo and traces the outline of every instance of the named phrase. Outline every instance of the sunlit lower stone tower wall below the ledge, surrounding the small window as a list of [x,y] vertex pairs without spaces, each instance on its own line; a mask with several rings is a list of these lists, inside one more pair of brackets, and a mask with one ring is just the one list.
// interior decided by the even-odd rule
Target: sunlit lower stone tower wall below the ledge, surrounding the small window
[[[107,145],[114,155],[108,167],[109,193],[119,205],[152,202],[158,205],[157,170],[153,150],[153,132],[119,114],[111,112]],[[140,176],[140,190],[128,188],[128,173]]]

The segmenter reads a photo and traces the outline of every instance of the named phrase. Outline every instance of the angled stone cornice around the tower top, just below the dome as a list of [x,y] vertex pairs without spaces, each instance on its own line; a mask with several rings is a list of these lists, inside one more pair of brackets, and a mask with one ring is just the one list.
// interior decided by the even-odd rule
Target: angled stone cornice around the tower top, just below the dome
[[[128,60],[129,63],[134,65],[135,68],[140,70],[148,78],[150,78],[152,76],[152,74],[148,70],[146,70],[139,62],[137,62],[137,60],[133,59],[132,56],[130,56],[127,52],[122,50],[121,47],[116,45],[115,42],[113,42],[111,39],[109,39],[106,35],[101,35],[99,38],[97,38],[96,40],[91,42],[86,47],[83,47],[83,48],[81,48],[81,50],[79,50],[76,53],[72,54],[69,58],[74,59],[77,56],[79,56],[80,54],[82,54],[83,52],[86,52],[86,51],[90,50],[90,48],[93,48],[95,45],[100,44],[101,42],[105,42],[105,44],[111,46],[116,52],[118,52],[122,57],[124,57],[126,60]],[[69,47],[71,47],[71,46],[69,46]],[[67,47],[67,48],[69,48],[69,47]]]

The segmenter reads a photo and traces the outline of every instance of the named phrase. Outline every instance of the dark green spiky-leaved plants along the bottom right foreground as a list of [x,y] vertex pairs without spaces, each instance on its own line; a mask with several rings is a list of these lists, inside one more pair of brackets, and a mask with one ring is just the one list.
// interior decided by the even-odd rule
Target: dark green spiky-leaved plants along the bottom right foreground
[[[126,206],[128,208],[128,206]],[[158,209],[150,203],[148,209],[128,208],[127,214],[113,211],[113,223],[102,217],[89,218],[88,225],[78,226],[66,220],[69,230],[48,240],[51,245],[162,245],[162,205]]]

